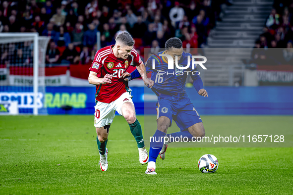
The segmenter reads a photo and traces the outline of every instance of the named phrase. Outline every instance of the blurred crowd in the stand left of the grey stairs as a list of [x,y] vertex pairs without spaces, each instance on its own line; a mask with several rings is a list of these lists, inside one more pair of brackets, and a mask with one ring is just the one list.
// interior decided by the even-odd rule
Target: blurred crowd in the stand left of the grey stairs
[[[1,0],[0,32],[37,32],[48,36],[46,63],[87,64],[101,47],[115,43],[121,31],[135,48],[164,48],[178,37],[184,48],[206,44],[227,0]],[[15,49],[20,55],[22,48]],[[5,52],[5,51],[3,51]],[[31,53],[31,52],[26,52]]]

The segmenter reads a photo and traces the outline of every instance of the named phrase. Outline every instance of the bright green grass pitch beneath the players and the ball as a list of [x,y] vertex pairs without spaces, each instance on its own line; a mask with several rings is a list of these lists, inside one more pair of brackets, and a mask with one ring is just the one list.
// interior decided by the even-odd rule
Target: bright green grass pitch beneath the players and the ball
[[[213,123],[217,117],[202,116],[206,132],[252,116]],[[261,117],[292,128],[292,116]],[[143,116],[138,120],[144,126]],[[293,194],[293,148],[168,148],[166,159],[157,160],[158,175],[145,175],[129,127],[116,116],[109,168],[101,172],[93,125],[93,116],[0,116],[0,194]],[[198,170],[206,153],[218,158],[216,173]]]

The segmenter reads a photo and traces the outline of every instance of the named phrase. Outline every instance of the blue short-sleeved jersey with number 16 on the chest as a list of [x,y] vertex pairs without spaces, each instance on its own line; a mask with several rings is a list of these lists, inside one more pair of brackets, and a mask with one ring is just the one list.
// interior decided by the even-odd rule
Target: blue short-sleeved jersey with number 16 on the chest
[[[165,51],[161,51],[156,55],[150,56],[145,64],[146,72],[152,73],[151,80],[155,82],[152,90],[158,97],[169,95],[176,98],[186,98],[185,83],[187,75],[190,75],[193,81],[198,79],[201,80],[197,68],[192,69],[192,56],[190,53],[185,53],[183,51],[182,56],[178,61],[178,66],[182,67],[185,67],[189,63],[187,69],[182,70],[176,68],[175,64],[174,69],[168,69],[168,61],[166,61],[165,57],[159,56],[159,54],[164,53]],[[189,62],[188,56],[190,56]],[[153,69],[153,59],[155,61],[155,69]]]

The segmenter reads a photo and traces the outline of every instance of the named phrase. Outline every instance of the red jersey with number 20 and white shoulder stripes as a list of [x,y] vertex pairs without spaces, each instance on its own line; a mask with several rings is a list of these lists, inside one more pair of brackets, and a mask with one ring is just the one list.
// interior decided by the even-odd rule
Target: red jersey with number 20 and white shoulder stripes
[[128,82],[121,78],[129,66],[138,66],[142,61],[135,49],[132,49],[126,59],[117,58],[112,46],[99,49],[95,55],[90,71],[96,72],[97,77],[104,78],[106,74],[113,75],[112,83],[96,85],[96,102],[111,103],[124,92],[129,91]]

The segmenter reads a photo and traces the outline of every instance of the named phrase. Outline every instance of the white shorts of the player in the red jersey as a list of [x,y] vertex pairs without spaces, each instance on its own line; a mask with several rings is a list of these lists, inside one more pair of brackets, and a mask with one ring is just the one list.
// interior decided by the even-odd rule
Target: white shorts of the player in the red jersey
[[111,125],[115,117],[115,111],[122,115],[122,105],[125,102],[132,102],[131,92],[123,93],[118,99],[111,103],[98,101],[95,106],[95,127],[101,128],[105,125]]

